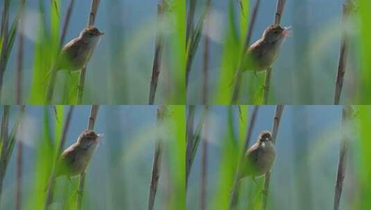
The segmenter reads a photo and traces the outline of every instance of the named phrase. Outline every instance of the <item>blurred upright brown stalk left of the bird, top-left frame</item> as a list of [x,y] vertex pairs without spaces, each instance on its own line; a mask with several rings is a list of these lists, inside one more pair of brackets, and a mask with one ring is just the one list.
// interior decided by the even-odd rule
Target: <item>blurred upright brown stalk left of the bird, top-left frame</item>
[[21,1],[20,9],[19,9],[19,28],[18,28],[18,49],[17,49],[17,71],[16,71],[16,82],[15,82],[15,90],[16,90],[16,103],[22,103],[22,68],[23,68],[23,28],[24,28],[24,6],[26,4],[26,0]]

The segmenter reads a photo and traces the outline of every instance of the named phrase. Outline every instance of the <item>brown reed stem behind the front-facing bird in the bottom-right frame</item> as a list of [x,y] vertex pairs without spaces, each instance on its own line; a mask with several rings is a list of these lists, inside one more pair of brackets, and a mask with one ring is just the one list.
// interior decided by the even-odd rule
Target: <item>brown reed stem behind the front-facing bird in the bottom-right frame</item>
[[[277,105],[275,117],[273,118],[272,126],[272,142],[275,144],[279,123],[281,122],[282,113],[284,112],[284,105]],[[261,199],[261,210],[265,210],[267,207],[268,201],[268,189],[269,189],[269,180],[270,180],[270,171],[268,171],[264,178],[264,193],[263,198]]]

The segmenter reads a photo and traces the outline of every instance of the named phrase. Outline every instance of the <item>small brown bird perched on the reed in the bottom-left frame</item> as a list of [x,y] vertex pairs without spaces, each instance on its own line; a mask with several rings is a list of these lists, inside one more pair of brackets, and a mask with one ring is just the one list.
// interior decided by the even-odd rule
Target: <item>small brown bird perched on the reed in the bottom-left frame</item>
[[63,151],[56,177],[67,175],[70,178],[83,173],[98,146],[99,136],[92,130],[80,133],[78,140]]

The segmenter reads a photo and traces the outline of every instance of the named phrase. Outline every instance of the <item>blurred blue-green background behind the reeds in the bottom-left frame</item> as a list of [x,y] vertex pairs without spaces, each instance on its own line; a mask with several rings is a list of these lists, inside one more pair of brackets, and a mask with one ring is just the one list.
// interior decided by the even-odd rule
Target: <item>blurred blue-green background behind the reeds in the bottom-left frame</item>
[[[50,126],[53,131],[55,119],[53,110],[50,107],[46,108],[51,117]],[[17,111],[17,106],[11,107],[10,126],[15,120]],[[121,207],[146,209],[156,130],[158,130],[155,126],[156,111],[157,106],[101,106],[94,130],[103,133],[104,136],[87,170],[84,209],[121,209]],[[22,175],[24,209],[27,209],[29,198],[33,198],[35,193],[44,191],[44,189],[33,190],[35,173],[37,173],[35,171],[37,145],[39,145],[37,143],[42,140],[43,113],[43,106],[26,107]],[[89,113],[90,106],[75,107],[64,149],[74,143],[78,135],[86,129]],[[169,140],[173,139],[170,137]],[[164,151],[163,157],[166,160],[166,149]],[[15,156],[14,151],[3,182],[0,209],[14,208]],[[169,180],[171,180],[166,178],[165,173],[169,170],[169,165],[164,161],[162,166],[160,172],[162,176],[159,179],[155,202],[156,209],[163,209],[166,206]],[[78,178],[72,178],[72,181],[76,184]],[[57,178],[57,183],[71,187],[71,183],[64,177]],[[71,193],[70,196],[76,196],[76,193]],[[61,204],[60,199],[60,196],[55,196],[54,205]]]

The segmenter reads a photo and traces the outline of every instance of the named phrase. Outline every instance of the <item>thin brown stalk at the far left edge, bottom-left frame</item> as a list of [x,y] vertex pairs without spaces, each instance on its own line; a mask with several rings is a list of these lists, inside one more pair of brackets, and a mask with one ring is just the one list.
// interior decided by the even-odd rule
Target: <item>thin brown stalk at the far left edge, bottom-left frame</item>
[[9,126],[9,105],[3,106],[3,116],[1,117],[0,141],[2,143],[0,154],[0,198],[3,189],[3,179],[6,172],[6,157],[8,155],[8,126]]

